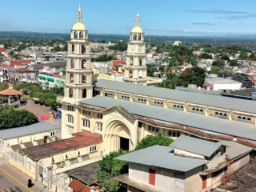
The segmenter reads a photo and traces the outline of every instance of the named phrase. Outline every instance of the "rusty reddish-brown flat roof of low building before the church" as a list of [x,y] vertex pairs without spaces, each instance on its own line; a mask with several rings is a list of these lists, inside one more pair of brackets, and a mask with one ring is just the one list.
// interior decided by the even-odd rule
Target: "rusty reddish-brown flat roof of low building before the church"
[[91,146],[101,143],[101,134],[92,134],[89,131],[82,131],[74,134],[74,138],[63,139],[58,142],[51,142],[41,146],[32,146],[22,150],[29,158],[35,162],[42,158],[50,157],[54,154],[60,154],[65,151],[75,150],[83,146]]

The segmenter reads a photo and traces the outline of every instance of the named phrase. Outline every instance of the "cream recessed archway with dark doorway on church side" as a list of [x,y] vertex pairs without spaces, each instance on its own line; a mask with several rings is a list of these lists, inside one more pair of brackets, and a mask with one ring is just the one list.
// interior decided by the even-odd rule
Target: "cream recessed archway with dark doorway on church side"
[[118,120],[114,120],[106,126],[104,141],[106,141],[106,153],[120,149],[132,150],[134,148],[129,128]]

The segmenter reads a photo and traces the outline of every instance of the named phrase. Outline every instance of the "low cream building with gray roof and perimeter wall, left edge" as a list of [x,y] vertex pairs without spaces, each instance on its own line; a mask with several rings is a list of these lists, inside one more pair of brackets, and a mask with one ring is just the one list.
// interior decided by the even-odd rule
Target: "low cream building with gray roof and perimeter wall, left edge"
[[38,173],[38,165],[24,155],[21,150],[54,142],[57,131],[57,127],[44,122],[0,130],[0,158],[4,158],[18,170],[35,178],[34,175]]

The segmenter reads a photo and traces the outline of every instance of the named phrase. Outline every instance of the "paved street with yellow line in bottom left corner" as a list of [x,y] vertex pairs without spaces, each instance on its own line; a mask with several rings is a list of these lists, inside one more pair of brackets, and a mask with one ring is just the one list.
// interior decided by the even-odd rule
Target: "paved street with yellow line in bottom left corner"
[[17,184],[17,186],[22,186],[24,192],[33,191],[33,192],[49,192],[49,190],[42,186],[42,183],[39,181],[34,181],[32,179],[32,183],[34,186],[27,188],[28,179],[31,179],[26,174],[23,174],[20,170],[16,169],[14,166],[11,166],[4,159],[0,158],[0,172],[5,175],[5,177],[11,179],[13,183]]

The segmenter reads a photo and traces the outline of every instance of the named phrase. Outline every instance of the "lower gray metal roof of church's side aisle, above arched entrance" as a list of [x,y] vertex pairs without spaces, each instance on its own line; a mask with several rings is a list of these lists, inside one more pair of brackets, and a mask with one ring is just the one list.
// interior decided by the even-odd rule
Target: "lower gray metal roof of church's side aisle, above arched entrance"
[[139,102],[128,102],[122,99],[114,99],[105,96],[86,99],[81,103],[96,108],[122,106],[131,114],[153,118],[159,122],[191,126],[198,130],[207,130],[216,134],[226,134],[256,141],[256,128],[252,123],[228,121],[227,119],[216,118],[213,116],[163,108],[161,106],[150,106]]

